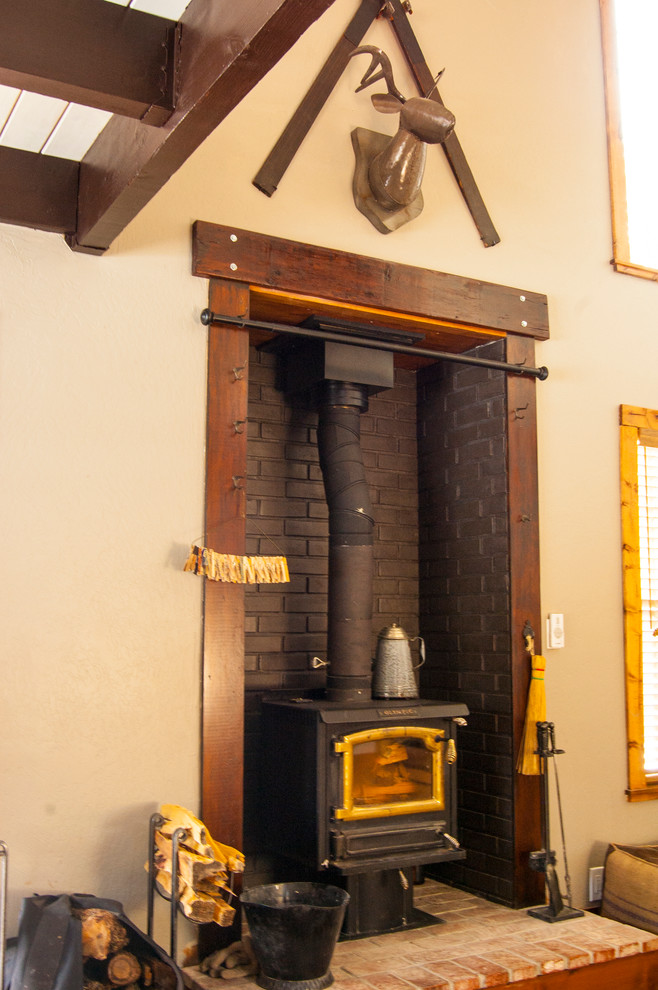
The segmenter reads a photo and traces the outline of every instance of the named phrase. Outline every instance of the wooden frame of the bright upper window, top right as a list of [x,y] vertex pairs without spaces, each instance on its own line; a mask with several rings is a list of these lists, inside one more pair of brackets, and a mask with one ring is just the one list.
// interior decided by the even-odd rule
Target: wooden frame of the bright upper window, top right
[[622,138],[621,107],[618,86],[617,44],[614,26],[615,0],[599,0],[601,37],[603,44],[603,73],[605,84],[606,124],[608,135],[608,172],[610,176],[610,206],[612,213],[612,266],[624,275],[658,281],[658,271],[631,261],[628,233],[626,166]]

